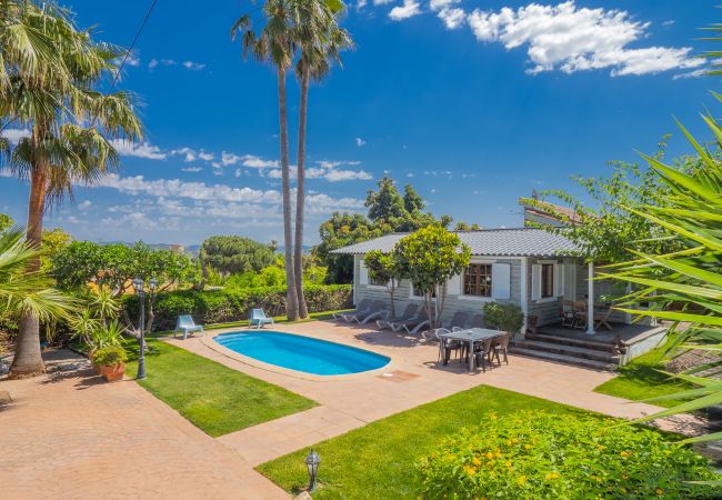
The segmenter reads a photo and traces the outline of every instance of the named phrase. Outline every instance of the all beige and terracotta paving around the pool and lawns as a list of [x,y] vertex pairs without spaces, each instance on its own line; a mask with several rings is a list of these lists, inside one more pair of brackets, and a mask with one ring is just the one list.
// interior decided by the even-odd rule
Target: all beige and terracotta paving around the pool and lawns
[[[13,398],[0,407],[2,497],[288,498],[252,467],[479,384],[615,417],[658,410],[592,392],[613,377],[609,372],[510,357],[509,366],[469,374],[455,361],[437,364],[438,346],[418,337],[332,322],[277,329],[373,350],[392,362],[375,372],[302,378],[223,351],[212,340],[220,330],[205,338],[168,339],[320,403],[212,439],[134,382],[102,383],[91,377],[86,360],[66,354],[49,374],[0,383]],[[689,417],[661,422],[678,431],[696,423]]]

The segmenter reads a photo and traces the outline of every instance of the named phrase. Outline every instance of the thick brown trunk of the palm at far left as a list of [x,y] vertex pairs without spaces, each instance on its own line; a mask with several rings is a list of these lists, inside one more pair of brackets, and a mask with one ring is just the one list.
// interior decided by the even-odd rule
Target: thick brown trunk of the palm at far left
[[[34,137],[33,137],[34,140]],[[46,209],[46,187],[48,167],[44,160],[33,160],[30,173],[30,202],[28,203],[28,242],[40,248],[42,239],[42,216]],[[40,259],[36,257],[28,266],[28,272],[40,270]],[[16,353],[10,367],[10,378],[32,377],[46,371],[40,354],[40,322],[38,318],[26,312],[20,318],[20,330],[16,340]]]

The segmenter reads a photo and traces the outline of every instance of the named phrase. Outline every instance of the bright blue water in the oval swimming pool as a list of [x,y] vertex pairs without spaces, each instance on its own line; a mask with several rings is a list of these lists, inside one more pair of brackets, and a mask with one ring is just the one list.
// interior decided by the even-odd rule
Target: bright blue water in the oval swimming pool
[[391,360],[363,349],[278,331],[223,333],[213,340],[264,363],[319,376],[375,370]]

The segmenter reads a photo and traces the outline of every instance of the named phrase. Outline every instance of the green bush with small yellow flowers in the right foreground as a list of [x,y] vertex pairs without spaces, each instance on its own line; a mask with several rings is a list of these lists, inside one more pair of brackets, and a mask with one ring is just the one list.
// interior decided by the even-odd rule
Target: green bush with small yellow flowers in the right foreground
[[427,498],[718,498],[685,481],[719,477],[708,460],[652,429],[613,419],[521,411],[490,414],[418,464]]

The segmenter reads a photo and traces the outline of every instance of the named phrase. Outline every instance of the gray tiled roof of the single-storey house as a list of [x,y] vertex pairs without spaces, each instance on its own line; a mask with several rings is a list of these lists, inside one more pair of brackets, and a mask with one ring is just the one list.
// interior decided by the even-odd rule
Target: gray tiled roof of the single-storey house
[[[552,234],[543,229],[485,229],[481,231],[458,231],[463,243],[473,256],[499,257],[554,257],[570,256],[578,251],[569,239]],[[365,253],[370,250],[390,252],[393,246],[408,232],[397,232],[373,240],[334,250],[333,253]]]

